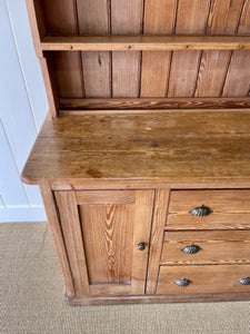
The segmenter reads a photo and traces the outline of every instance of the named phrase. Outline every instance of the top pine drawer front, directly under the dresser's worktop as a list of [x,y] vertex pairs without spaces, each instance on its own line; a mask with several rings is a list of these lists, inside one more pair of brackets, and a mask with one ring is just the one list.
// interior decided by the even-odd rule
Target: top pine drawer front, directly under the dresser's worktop
[[[207,216],[196,216],[193,208],[204,205]],[[202,209],[197,209],[196,214]],[[248,229],[250,190],[172,190],[166,229]]]

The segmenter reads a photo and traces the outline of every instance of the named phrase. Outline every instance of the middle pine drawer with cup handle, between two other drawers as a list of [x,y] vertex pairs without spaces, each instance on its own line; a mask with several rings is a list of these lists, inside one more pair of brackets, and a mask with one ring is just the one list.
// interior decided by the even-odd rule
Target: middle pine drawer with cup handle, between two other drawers
[[162,265],[229,263],[250,264],[250,230],[189,230],[164,234]]

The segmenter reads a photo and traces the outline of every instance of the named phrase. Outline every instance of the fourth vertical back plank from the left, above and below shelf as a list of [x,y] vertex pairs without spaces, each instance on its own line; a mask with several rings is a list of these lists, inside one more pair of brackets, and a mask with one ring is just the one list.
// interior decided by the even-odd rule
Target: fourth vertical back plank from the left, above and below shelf
[[[146,0],[144,33],[172,33],[176,0]],[[141,66],[141,97],[164,97],[167,91],[169,51],[143,51]]]

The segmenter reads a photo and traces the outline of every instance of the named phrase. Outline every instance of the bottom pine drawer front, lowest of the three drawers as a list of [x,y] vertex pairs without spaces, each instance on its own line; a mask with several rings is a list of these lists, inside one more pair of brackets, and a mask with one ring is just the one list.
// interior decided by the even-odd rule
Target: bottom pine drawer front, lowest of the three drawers
[[[250,265],[161,266],[157,294],[250,293],[250,285],[238,282],[249,276]],[[181,278],[190,284],[177,285]]]

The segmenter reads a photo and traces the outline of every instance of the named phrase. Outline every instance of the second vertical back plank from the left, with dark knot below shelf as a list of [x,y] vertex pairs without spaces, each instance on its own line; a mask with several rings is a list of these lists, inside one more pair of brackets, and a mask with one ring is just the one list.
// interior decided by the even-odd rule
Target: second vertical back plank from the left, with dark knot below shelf
[[[109,0],[77,0],[80,33],[110,33]],[[111,52],[81,52],[86,97],[111,96]]]

